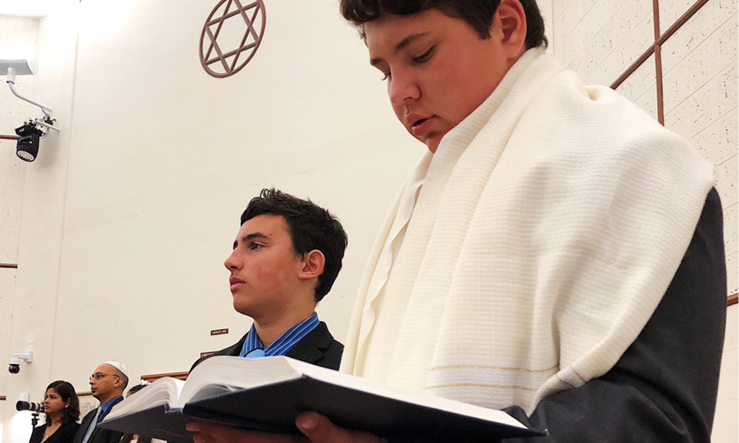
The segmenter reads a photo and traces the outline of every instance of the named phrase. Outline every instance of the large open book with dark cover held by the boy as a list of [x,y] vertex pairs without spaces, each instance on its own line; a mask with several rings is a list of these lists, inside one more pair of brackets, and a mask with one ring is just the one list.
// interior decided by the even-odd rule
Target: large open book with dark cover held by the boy
[[542,435],[503,411],[400,391],[290,357],[211,357],[194,368],[187,382],[164,377],[129,396],[98,426],[186,443],[192,438],[185,424],[193,417],[299,433],[295,419],[303,411],[379,436],[489,442]]

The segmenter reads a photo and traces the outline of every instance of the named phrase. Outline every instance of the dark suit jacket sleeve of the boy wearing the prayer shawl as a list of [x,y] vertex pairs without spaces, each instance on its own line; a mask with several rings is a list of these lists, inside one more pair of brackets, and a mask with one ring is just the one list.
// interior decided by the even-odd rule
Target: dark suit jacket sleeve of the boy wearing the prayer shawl
[[531,417],[506,410],[548,429],[531,443],[710,441],[726,322],[722,224],[712,189],[664,298],[607,374],[543,399]]

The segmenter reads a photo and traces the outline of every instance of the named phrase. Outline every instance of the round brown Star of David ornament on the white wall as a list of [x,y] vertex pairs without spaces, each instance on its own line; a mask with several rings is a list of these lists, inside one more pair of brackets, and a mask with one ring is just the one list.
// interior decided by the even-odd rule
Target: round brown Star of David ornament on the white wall
[[200,34],[200,64],[224,78],[239,72],[259,49],[267,16],[262,0],[221,0]]

